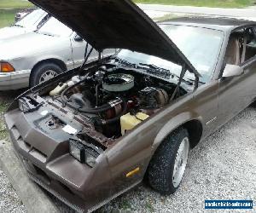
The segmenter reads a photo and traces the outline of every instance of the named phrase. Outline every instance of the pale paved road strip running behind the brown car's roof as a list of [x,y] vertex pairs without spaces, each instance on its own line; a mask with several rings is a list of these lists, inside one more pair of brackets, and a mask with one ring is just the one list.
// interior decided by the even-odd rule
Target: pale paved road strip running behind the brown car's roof
[[205,14],[214,16],[237,17],[249,20],[256,20],[256,8],[250,7],[247,9],[220,9],[220,8],[205,8],[205,7],[190,7],[190,6],[172,6],[159,4],[137,4],[147,14],[158,16],[162,13],[172,14]]

